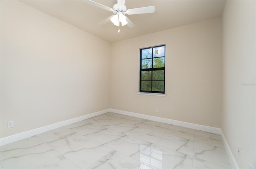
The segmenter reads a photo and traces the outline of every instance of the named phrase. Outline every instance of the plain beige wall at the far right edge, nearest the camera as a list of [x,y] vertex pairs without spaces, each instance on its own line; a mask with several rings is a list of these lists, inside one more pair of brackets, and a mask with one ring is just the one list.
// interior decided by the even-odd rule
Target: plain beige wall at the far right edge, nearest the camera
[[256,1],[226,1],[222,30],[221,128],[238,166],[249,169],[256,167]]

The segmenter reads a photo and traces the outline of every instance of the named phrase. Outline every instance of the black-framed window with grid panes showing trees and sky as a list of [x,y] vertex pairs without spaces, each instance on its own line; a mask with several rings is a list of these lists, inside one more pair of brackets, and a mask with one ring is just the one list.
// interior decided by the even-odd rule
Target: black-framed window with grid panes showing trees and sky
[[140,49],[140,92],[164,93],[165,45]]

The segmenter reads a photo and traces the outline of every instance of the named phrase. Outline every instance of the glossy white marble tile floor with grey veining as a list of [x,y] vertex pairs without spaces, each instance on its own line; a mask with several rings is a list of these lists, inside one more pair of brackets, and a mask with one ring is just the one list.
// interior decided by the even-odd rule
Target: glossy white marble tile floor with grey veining
[[0,169],[230,169],[221,136],[106,113],[0,147]]

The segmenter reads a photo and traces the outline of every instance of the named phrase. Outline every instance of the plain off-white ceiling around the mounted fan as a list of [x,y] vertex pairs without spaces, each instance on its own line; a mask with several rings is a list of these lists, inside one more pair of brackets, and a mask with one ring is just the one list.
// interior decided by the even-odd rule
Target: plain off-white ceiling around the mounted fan
[[[116,4],[116,0],[94,1],[110,8]],[[127,9],[144,6],[156,8],[151,14],[126,15],[136,26],[130,29],[128,26],[114,26],[111,22],[100,25],[99,22],[113,13],[90,6],[83,0],[21,0],[21,2],[109,42],[217,18],[222,16],[225,4],[225,0],[126,0]]]

